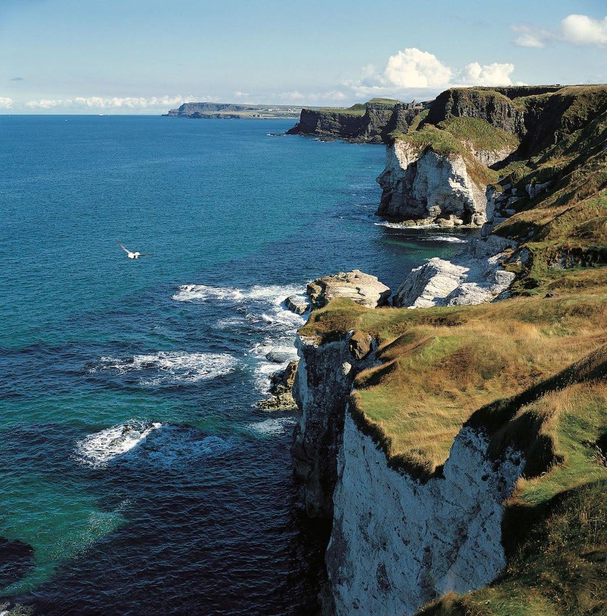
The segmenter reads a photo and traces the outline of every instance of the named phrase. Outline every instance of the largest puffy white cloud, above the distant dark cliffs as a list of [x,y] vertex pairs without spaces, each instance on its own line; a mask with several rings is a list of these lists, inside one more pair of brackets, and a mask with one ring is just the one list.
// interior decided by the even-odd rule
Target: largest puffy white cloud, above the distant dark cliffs
[[451,69],[427,51],[408,47],[388,58],[385,82],[398,88],[442,86],[451,79]]

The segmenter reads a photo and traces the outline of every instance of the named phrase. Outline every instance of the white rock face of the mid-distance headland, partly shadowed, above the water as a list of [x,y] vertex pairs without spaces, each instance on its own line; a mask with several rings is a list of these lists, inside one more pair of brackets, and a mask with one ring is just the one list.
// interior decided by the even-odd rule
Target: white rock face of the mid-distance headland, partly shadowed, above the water
[[471,179],[459,154],[443,156],[431,148],[420,152],[397,139],[387,147],[386,166],[377,183],[382,187],[379,216],[425,224],[486,222],[485,187]]

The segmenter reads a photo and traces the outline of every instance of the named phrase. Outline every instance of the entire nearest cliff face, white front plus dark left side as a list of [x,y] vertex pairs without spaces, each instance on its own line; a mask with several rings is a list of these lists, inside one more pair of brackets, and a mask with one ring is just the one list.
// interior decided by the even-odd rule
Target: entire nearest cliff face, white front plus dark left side
[[298,341],[295,474],[308,515],[333,519],[323,614],[409,615],[499,575],[502,503],[524,461],[509,450],[496,463],[484,433],[464,428],[440,476],[424,483],[391,468],[348,408],[354,376],[376,361],[360,337]]

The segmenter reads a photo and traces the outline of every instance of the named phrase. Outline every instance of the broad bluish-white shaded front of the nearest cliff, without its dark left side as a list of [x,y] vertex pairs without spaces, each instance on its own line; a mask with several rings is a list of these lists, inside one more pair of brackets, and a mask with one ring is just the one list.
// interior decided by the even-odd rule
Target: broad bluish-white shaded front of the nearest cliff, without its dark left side
[[502,502],[523,468],[500,464],[480,432],[456,437],[444,477],[420,484],[388,468],[384,452],[345,413],[335,517],[326,564],[336,616],[414,614],[449,591],[465,593],[505,567]]

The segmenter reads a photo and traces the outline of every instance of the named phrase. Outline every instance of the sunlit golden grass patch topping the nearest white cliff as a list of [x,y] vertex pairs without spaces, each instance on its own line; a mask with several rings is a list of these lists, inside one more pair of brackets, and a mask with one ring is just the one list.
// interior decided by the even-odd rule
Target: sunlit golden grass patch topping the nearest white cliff
[[427,479],[474,410],[525,391],[607,341],[607,294],[467,307],[366,310],[334,300],[301,333],[361,330],[381,365],[355,380],[353,415],[395,468]]

